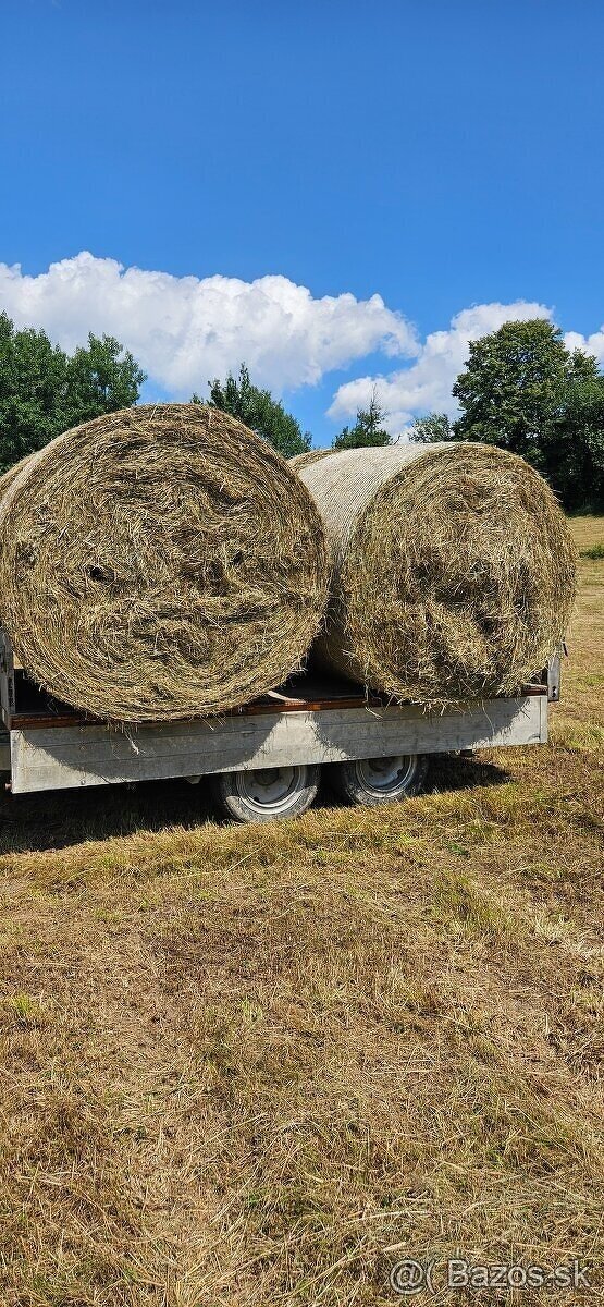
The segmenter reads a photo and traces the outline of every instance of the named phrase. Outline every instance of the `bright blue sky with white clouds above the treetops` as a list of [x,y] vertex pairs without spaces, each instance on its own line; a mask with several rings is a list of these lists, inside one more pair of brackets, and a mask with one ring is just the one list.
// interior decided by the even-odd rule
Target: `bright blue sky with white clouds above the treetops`
[[250,356],[316,443],[505,316],[604,361],[603,54],[601,0],[1,0],[0,308],[153,395]]

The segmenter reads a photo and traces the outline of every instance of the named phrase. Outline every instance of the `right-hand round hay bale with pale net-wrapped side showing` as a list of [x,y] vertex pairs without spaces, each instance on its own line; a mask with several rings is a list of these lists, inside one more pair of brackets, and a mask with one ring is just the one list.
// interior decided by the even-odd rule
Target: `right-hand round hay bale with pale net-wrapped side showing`
[[298,468],[331,550],[319,660],[397,701],[511,694],[563,638],[575,550],[545,481],[486,444],[400,444]]

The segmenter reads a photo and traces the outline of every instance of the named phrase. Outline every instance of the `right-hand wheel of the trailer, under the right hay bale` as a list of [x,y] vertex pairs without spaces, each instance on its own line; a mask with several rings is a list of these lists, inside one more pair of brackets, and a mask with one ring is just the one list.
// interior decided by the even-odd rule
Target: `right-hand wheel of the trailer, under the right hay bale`
[[418,795],[425,784],[428,758],[421,753],[399,753],[388,758],[360,758],[336,762],[331,783],[349,804],[391,804]]

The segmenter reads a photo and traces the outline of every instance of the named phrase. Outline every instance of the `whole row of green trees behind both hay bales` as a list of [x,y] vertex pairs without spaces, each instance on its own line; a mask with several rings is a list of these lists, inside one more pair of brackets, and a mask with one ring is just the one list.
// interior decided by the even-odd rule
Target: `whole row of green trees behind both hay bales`
[[[55,435],[140,399],[146,376],[112,336],[89,335],[72,354],[43,331],[17,329],[0,314],[0,472]],[[311,437],[268,389],[239,375],[208,382],[208,401],[268,440],[285,457]],[[416,418],[411,439],[478,440],[527,459],[569,511],[604,507],[604,375],[596,361],[569,350],[560,328],[543,319],[506,323],[469,345],[452,393],[459,417]],[[201,403],[197,395],[192,403]],[[369,406],[335,437],[335,450],[391,444],[374,388]]]

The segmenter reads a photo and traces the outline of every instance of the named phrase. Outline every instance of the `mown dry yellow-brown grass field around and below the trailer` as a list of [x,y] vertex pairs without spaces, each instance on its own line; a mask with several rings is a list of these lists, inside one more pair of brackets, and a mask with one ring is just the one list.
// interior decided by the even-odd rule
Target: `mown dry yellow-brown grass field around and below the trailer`
[[583,558],[552,745],[390,810],[1,801],[1,1307],[378,1307],[405,1256],[603,1299],[603,647]]

